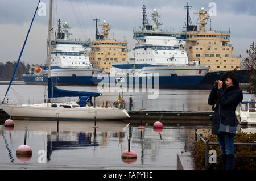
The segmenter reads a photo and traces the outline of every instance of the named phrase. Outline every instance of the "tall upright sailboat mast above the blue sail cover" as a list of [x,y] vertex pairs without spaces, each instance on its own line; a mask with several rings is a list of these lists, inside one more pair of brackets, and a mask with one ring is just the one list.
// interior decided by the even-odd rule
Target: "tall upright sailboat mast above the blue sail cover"
[[47,53],[47,64],[48,64],[48,78],[51,77],[51,44],[52,44],[52,0],[50,0],[49,9],[49,24],[48,24],[48,53]]

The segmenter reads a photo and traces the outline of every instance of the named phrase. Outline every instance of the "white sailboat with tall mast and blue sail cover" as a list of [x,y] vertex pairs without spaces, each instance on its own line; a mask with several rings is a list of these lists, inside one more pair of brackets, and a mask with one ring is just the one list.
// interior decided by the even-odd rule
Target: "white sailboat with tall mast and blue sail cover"
[[[38,2],[39,6],[40,0]],[[38,10],[38,6],[36,7],[36,11]],[[35,11],[35,14],[36,14]],[[32,23],[35,18],[32,19],[30,24],[30,28],[28,30],[26,39],[24,41],[22,50],[20,52],[19,59],[17,61],[16,67],[19,64],[20,57],[22,55],[24,46],[27,41],[27,37],[30,33],[30,29]],[[49,69],[51,70],[51,30],[52,30],[52,0],[50,0],[50,11],[49,11],[49,25],[48,25],[48,54],[47,54],[47,62]],[[16,68],[14,69],[13,77],[15,74]],[[40,118],[40,119],[72,119],[72,120],[116,120],[116,119],[126,119],[130,118],[127,110],[119,109],[117,107],[96,107],[95,98],[100,96],[100,93],[96,92],[85,92],[85,91],[69,91],[62,90],[52,85],[51,81],[51,73],[48,71],[48,100],[46,103],[41,104],[14,104],[8,103],[8,99],[5,102],[5,98],[9,88],[11,86],[11,82],[13,81],[13,77],[10,80],[9,87],[7,88],[5,97],[0,103],[0,107],[8,114],[10,117],[27,117],[27,118]],[[52,102],[52,98],[58,97],[79,97],[79,101],[77,102],[69,102],[69,103],[54,103]],[[92,98],[94,98],[94,105],[92,103]],[[89,103],[89,106],[86,104]]]

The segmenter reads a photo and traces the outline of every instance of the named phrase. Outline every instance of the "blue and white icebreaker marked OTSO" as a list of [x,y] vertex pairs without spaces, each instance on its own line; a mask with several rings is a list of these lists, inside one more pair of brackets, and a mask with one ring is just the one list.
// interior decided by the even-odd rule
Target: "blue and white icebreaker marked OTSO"
[[115,83],[119,80],[128,83],[125,82],[128,79],[122,77],[146,77],[158,73],[160,87],[197,85],[209,68],[189,64],[182,44],[185,40],[184,32],[161,30],[159,26],[163,23],[159,22],[156,9],[151,17],[152,25],[148,24],[146,9],[143,6],[143,27],[133,31],[133,37],[138,42],[129,52],[128,62],[112,64],[109,78],[115,77]]

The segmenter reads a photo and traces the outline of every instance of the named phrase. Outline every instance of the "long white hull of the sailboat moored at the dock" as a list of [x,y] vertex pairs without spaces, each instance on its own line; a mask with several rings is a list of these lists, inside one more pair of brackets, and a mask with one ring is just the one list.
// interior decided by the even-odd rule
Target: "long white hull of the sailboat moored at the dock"
[[[67,105],[67,104],[65,104]],[[71,104],[69,104],[71,105]],[[1,108],[11,117],[35,117],[51,119],[113,120],[130,118],[125,109],[102,107],[51,107],[51,104],[1,104]]]

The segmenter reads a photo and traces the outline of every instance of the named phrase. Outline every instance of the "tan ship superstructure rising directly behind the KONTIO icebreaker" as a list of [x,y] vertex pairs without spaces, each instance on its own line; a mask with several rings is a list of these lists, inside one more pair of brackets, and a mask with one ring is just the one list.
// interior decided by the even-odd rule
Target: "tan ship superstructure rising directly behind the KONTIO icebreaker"
[[90,52],[88,56],[93,68],[103,69],[109,73],[112,63],[127,62],[127,40],[116,41],[108,39],[110,31],[109,24],[102,24],[102,39],[90,41]]

